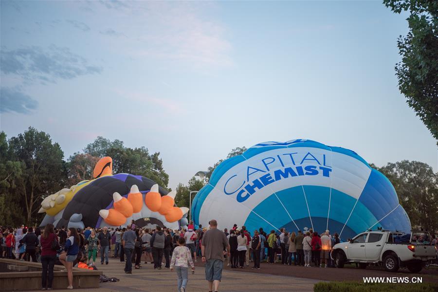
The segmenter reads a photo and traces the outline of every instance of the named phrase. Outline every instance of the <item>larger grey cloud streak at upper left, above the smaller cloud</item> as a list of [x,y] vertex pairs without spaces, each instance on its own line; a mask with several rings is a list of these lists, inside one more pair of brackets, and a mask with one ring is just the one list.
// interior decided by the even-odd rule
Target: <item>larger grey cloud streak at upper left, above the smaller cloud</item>
[[1,50],[0,69],[4,74],[16,74],[26,80],[56,83],[55,79],[73,79],[86,74],[101,73],[102,68],[93,66],[68,48],[55,45],[48,49],[32,46],[6,51]]

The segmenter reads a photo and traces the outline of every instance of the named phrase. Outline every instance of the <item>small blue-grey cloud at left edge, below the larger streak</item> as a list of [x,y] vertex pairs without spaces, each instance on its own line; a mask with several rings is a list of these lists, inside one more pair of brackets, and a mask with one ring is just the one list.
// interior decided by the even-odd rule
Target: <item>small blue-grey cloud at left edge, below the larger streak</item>
[[0,88],[0,112],[29,114],[37,107],[38,102],[29,95],[10,87]]

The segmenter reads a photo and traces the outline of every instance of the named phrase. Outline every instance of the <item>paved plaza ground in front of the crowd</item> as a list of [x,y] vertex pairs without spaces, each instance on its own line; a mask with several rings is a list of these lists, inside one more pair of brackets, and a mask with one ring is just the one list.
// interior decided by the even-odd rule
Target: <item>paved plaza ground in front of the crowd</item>
[[[198,263],[199,264],[199,263]],[[109,265],[97,264],[97,268],[108,277],[117,277],[119,282],[100,283],[99,289],[93,292],[110,291],[177,291],[176,273],[169,269],[154,270],[152,264],[142,264],[142,269],[133,269],[132,274],[125,274],[125,263],[110,259]],[[248,269],[248,268],[246,268]],[[222,274],[219,291],[223,292],[305,292],[313,291],[313,285],[320,280],[298,278],[292,276],[276,276],[271,274],[241,273],[226,269]],[[59,290],[56,290],[59,291]],[[64,290],[61,290],[64,291]],[[71,291],[71,290],[65,290]],[[204,268],[196,267],[195,274],[189,274],[187,292],[206,292]]]

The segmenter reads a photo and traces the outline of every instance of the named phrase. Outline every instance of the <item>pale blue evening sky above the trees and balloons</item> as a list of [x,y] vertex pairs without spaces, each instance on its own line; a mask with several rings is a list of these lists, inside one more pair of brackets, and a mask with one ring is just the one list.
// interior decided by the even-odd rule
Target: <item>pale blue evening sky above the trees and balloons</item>
[[381,1],[1,1],[0,129],[160,152],[169,187],[265,141],[438,171],[398,90],[407,14]]

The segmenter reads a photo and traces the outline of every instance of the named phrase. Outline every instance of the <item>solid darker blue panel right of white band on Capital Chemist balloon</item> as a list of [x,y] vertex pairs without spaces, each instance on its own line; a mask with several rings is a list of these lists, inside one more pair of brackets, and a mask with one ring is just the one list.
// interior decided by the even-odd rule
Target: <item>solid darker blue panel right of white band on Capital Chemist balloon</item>
[[382,219],[399,204],[397,193],[391,182],[374,168],[371,170],[359,201],[378,219]]

